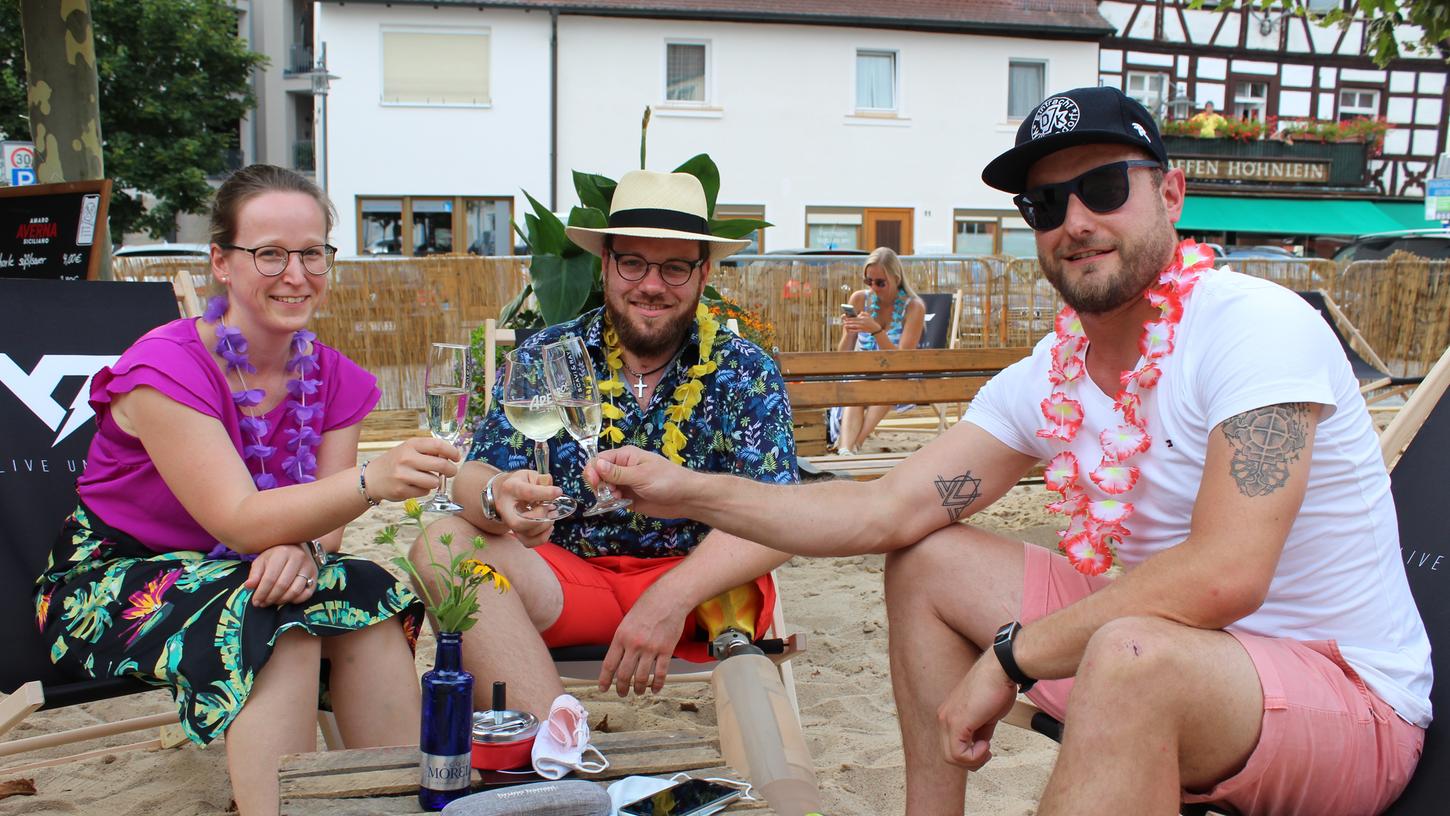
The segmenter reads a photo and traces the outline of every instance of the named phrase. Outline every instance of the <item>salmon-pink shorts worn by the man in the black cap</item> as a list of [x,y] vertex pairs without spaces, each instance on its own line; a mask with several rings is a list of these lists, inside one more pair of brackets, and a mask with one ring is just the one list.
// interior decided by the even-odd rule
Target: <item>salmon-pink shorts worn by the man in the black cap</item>
[[[1109,583],[1067,558],[1024,545],[1022,623],[1069,606]],[[1290,641],[1230,632],[1248,652],[1264,691],[1259,745],[1234,775],[1183,802],[1215,802],[1254,813],[1379,813],[1405,788],[1424,729],[1402,720],[1344,662],[1334,641]],[[1072,678],[1044,680],[1027,696],[1057,719]]]

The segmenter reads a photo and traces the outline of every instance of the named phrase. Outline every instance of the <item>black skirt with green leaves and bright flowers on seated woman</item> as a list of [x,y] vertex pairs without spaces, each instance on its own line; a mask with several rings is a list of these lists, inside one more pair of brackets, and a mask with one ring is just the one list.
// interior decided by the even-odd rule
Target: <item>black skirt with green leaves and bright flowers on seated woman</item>
[[[36,578],[36,623],[51,661],[77,677],[132,675],[170,688],[199,745],[242,710],[289,629],[344,635],[400,616],[409,648],[418,641],[422,601],[373,561],[332,554],[310,599],[265,607],[242,586],[249,570],[196,551],[151,551],[81,504]],[[318,693],[325,704],[325,665]]]

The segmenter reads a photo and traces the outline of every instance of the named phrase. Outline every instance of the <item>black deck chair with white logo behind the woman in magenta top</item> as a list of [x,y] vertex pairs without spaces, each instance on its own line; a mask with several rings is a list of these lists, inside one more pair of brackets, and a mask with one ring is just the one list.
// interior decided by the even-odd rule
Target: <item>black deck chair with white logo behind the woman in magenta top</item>
[[[35,577],[75,509],[75,477],[96,430],[91,375],[175,317],[165,283],[0,280],[0,739],[36,710],[155,690],[61,673],[36,629]],[[175,722],[174,710],[168,716]],[[0,741],[0,757],[165,722],[157,715]]]

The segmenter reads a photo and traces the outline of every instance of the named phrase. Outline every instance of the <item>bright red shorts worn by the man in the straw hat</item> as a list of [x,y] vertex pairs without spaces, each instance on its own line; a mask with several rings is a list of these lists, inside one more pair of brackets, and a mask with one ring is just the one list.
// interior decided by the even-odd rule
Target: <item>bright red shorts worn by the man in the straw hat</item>
[[[661,575],[684,561],[683,555],[666,558],[632,558],[629,555],[600,555],[580,558],[563,546],[544,544],[534,548],[554,571],[564,590],[564,609],[558,620],[544,630],[548,646],[609,645],[625,613]],[[776,609],[776,586],[770,575],[755,578],[763,601],[755,620],[755,636],[770,629]],[[674,657],[692,662],[709,662],[706,632],[692,610],[684,620]]]

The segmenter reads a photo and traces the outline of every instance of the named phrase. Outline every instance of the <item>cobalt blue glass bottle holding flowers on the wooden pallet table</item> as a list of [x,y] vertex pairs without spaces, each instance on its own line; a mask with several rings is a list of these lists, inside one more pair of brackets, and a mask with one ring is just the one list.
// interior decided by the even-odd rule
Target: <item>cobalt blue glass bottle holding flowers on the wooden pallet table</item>
[[463,670],[458,632],[438,633],[434,668],[423,673],[423,723],[419,738],[418,803],[442,810],[468,794],[473,780],[473,675]]

